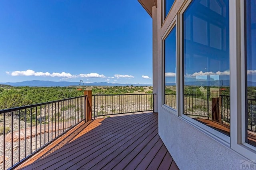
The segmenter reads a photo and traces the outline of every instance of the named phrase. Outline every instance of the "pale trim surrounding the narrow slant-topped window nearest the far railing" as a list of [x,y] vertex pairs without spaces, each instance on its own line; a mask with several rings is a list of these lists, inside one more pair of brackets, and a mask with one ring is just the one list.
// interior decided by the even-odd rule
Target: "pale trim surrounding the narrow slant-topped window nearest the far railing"
[[[164,40],[167,38],[167,36],[170,34],[170,32],[173,30],[173,28],[175,27],[175,32],[176,32],[176,66],[178,65],[178,29],[177,29],[177,26],[176,26],[176,23],[177,23],[177,16],[174,17],[174,19],[172,20],[172,22],[170,23],[170,25],[168,26],[168,28],[166,29],[166,31],[164,32],[162,38],[161,38],[161,51],[162,51],[162,62],[161,62],[161,65],[162,65],[162,76],[161,76],[161,79],[162,79],[162,100],[161,100],[161,105],[162,105],[162,108],[165,109],[166,111],[170,112],[170,113],[173,113],[174,115],[178,116],[178,85],[176,83],[176,109],[168,106],[168,105],[165,105],[164,104],[164,100],[165,100],[165,73],[164,73]],[[176,67],[176,82],[177,82],[177,67]]]

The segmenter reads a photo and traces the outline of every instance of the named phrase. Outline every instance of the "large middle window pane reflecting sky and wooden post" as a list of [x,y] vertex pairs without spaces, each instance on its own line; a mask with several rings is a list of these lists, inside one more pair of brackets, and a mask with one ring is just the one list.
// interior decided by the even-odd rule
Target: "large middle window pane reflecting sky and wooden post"
[[194,0],[183,20],[183,114],[230,136],[228,0]]

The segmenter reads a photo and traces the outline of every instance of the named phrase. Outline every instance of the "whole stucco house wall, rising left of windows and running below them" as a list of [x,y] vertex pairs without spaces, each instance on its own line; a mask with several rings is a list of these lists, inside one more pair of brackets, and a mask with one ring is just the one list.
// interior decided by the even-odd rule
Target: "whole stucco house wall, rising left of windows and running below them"
[[[156,76],[153,79],[153,86],[157,85],[159,135],[181,170],[240,169],[240,161],[246,158],[232,150],[230,146],[212,138],[200,128],[162,107],[161,38],[183,3],[184,0],[175,0],[164,23],[162,23],[162,0],[158,0],[158,8],[153,7],[153,38],[156,38],[154,22],[157,21],[157,44],[153,40],[153,76]],[[155,10],[157,15],[154,14]]]

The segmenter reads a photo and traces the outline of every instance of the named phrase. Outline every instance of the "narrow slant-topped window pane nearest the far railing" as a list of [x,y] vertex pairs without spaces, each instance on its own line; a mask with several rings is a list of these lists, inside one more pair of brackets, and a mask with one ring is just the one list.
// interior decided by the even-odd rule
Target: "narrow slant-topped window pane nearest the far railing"
[[176,28],[164,40],[164,104],[176,109]]

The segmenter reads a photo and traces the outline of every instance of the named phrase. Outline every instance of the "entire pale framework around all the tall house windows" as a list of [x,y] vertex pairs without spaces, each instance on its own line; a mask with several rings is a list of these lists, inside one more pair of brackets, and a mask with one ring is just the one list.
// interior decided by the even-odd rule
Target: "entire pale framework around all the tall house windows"
[[[170,113],[177,115],[184,122],[190,124],[204,134],[210,136],[220,144],[231,148],[239,154],[250,160],[256,158],[256,147],[246,143],[246,96],[245,96],[245,0],[229,0],[229,41],[230,41],[230,137],[214,130],[198,121],[184,115],[183,110],[183,21],[182,14],[186,11],[192,0],[185,0],[180,10],[178,10],[175,19],[161,38],[162,46],[162,68],[164,68],[164,38],[176,26],[176,96],[177,109],[171,109],[164,105],[164,97],[162,97],[162,108]],[[167,18],[167,17],[166,17]],[[162,94],[164,94],[164,69],[162,69]]]

